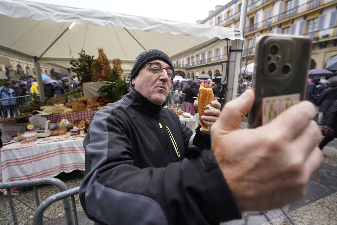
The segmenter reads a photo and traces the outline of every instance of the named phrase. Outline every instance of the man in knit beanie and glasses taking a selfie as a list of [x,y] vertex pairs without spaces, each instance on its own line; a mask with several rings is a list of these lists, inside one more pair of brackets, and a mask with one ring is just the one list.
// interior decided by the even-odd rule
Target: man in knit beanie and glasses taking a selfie
[[[175,112],[163,108],[175,75],[163,51],[142,52],[134,60],[130,92],[91,118],[83,141],[85,178],[79,189],[89,219],[118,225],[219,224],[241,218],[243,211],[267,210],[301,197],[305,182],[301,186],[298,180],[318,168],[322,157],[309,157],[308,150],[285,151],[304,146],[294,146],[297,142],[290,144],[285,137],[302,137],[297,131],[302,132],[310,136],[309,149],[318,136],[312,126],[303,123],[310,132],[298,126],[296,131],[291,127],[292,132],[285,129],[283,139],[275,139],[271,134],[277,132],[268,133],[265,126],[237,130],[254,101],[253,92],[246,91],[226,104],[221,115],[220,104],[212,101],[215,108],[205,110],[202,118],[212,126],[212,135],[198,127],[193,136]],[[308,107],[294,110],[303,117],[304,109]],[[293,124],[287,119],[294,116],[280,116],[282,123]],[[266,139],[258,136],[264,133]],[[266,141],[263,147],[261,140]],[[304,158],[294,154],[310,158],[310,166],[294,165],[294,160]]]

